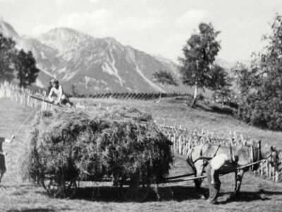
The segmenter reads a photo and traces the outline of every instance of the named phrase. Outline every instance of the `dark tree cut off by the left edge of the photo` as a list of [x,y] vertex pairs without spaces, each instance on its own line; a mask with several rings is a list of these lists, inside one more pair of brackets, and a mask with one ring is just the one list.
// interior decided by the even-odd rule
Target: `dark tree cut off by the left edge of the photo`
[[0,33],[0,79],[11,81],[14,78],[13,59],[16,57],[16,43]]

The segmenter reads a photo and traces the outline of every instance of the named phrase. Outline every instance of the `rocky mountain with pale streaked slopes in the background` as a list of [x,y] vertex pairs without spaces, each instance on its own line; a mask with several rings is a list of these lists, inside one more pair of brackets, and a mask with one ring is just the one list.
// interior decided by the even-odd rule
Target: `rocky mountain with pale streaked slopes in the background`
[[0,25],[18,49],[32,51],[40,69],[37,86],[47,88],[55,76],[68,93],[73,88],[84,94],[159,92],[160,86],[153,83],[154,72],[167,70],[178,78],[178,66],[172,61],[121,45],[113,37],[96,38],[70,28],[20,37],[8,23],[2,20]]

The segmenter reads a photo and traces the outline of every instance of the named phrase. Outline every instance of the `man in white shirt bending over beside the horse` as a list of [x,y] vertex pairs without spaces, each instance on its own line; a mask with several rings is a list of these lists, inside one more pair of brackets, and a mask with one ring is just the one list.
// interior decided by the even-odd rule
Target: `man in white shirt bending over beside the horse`
[[209,164],[206,167],[207,181],[209,184],[209,203],[216,204],[217,197],[219,196],[219,189],[221,182],[219,180],[219,170],[224,165],[237,165],[238,155],[232,155],[228,157],[226,154],[216,155],[212,160],[209,160]]

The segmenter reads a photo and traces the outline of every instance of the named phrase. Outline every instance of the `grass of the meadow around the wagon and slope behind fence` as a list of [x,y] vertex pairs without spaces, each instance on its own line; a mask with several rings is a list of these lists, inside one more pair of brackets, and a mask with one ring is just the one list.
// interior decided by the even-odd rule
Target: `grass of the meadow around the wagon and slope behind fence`
[[[77,100],[75,100],[77,101]],[[82,100],[83,101],[83,100]],[[204,109],[191,109],[183,104],[183,100],[166,99],[160,103],[152,101],[122,101],[122,100],[85,100],[87,104],[101,105],[131,105],[151,112],[157,122],[167,122],[168,125],[181,124],[188,129],[209,129],[221,133],[238,131],[245,137],[262,137],[268,143],[279,143],[281,132],[264,131],[230,117],[226,114],[216,114]],[[6,99],[0,99],[0,136],[11,136],[15,129],[32,112]],[[178,182],[164,184],[160,187],[163,201],[157,201],[154,192],[144,203],[126,202],[118,199],[116,191],[109,184],[103,184],[101,196],[94,201],[90,194],[92,189],[82,189],[75,199],[54,199],[46,195],[42,187],[30,182],[23,182],[20,177],[19,160],[23,148],[28,143],[31,129],[31,118],[20,129],[14,143],[4,144],[7,173],[3,178],[0,189],[0,211],[281,211],[282,184],[260,179],[247,173],[243,179],[241,197],[237,201],[228,201],[233,192],[233,175],[221,177],[221,196],[219,205],[209,205],[195,195],[193,182]],[[270,137],[271,139],[266,140]],[[278,145],[277,145],[278,146]],[[281,146],[280,146],[281,148]],[[191,172],[182,156],[175,156],[175,163],[171,168],[171,176],[183,175]],[[207,192],[207,183],[203,182]],[[172,195],[173,193],[173,195]]]

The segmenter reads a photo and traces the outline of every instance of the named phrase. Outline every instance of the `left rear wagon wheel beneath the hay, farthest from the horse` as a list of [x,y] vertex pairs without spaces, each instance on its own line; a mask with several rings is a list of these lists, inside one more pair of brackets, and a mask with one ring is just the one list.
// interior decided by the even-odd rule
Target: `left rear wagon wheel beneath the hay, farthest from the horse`
[[78,189],[75,179],[64,181],[63,179],[58,180],[55,177],[42,179],[42,186],[49,196],[69,199],[73,198]]

